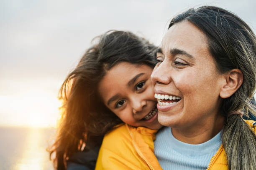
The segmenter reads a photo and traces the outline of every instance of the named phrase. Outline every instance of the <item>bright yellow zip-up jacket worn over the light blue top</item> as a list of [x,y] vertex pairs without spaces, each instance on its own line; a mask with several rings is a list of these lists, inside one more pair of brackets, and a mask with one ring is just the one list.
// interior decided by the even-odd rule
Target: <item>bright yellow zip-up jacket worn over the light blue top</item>
[[[253,128],[253,120],[245,120]],[[256,134],[256,128],[253,128]],[[95,170],[162,170],[154,155],[156,130],[127,124],[105,135]],[[114,146],[113,146],[114,145]],[[228,170],[223,145],[212,157],[207,170]]]

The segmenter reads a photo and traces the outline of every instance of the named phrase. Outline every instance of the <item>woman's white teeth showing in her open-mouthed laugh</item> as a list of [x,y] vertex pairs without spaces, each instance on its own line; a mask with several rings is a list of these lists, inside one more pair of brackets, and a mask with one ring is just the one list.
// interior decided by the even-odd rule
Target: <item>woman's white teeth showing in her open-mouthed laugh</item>
[[181,99],[181,97],[179,96],[161,95],[156,93],[155,93],[155,98],[158,99],[157,102],[161,106],[173,105],[174,103],[178,102]]

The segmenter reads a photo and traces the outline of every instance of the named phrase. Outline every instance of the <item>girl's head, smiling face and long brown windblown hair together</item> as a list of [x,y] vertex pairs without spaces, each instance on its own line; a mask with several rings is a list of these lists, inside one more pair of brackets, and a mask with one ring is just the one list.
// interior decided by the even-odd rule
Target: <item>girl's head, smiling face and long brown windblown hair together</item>
[[50,148],[56,169],[67,168],[84,145],[86,150],[99,147],[102,136],[123,122],[131,126],[119,128],[143,126],[154,133],[161,127],[150,80],[156,47],[131,32],[109,31],[99,39],[60,89],[63,112]]

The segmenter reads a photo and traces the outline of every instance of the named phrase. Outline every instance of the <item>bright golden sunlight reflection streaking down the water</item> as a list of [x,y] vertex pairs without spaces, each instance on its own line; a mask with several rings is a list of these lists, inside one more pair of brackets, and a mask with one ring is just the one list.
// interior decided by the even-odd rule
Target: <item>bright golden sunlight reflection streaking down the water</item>
[[[46,152],[47,132],[40,128],[30,128],[23,145],[23,153],[13,165],[13,170],[53,170]],[[17,141],[18,142],[18,141]]]

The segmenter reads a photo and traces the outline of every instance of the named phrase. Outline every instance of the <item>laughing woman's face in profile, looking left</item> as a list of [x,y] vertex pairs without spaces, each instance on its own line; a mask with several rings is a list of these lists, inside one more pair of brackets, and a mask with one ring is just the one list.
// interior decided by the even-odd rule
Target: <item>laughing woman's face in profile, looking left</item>
[[187,21],[173,25],[164,36],[157,60],[151,79],[162,125],[191,129],[217,119],[224,79],[203,32]]

